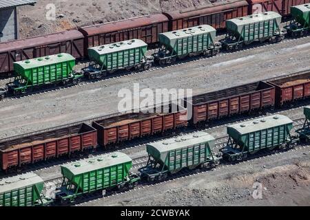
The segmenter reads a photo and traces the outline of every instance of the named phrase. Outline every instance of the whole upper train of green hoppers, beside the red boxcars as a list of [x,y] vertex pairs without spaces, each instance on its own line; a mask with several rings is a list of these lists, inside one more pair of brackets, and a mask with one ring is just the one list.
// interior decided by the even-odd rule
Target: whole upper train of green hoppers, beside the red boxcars
[[296,15],[296,21],[285,29],[279,27],[281,16],[276,12],[229,19],[226,21],[227,35],[220,43],[215,41],[216,29],[210,25],[160,33],[159,48],[152,56],[147,56],[147,43],[140,39],[89,47],[88,67],[79,72],[74,71],[74,56],[66,53],[14,62],[16,76],[6,89],[1,89],[0,99],[47,86],[72,85],[81,80],[103,78],[122,69],[146,70],[154,63],[169,65],[188,56],[214,56],[221,49],[239,50],[254,41],[277,43],[285,38],[286,30],[293,36],[301,36],[309,30],[310,6],[293,7],[292,13]]

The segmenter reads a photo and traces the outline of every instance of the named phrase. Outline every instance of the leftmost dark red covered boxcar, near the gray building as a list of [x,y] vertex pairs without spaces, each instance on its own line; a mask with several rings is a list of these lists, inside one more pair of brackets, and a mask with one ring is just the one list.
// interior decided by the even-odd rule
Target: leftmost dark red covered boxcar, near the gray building
[[83,58],[83,45],[84,36],[78,30],[0,43],[0,76],[12,72],[15,61],[59,53],[68,53],[75,58]]

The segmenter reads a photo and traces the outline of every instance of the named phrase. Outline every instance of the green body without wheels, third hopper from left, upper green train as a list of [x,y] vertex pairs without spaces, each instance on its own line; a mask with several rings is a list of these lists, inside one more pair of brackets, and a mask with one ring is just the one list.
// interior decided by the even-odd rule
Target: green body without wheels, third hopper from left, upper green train
[[158,34],[160,43],[177,56],[209,50],[214,45],[215,37],[216,30],[210,25]]

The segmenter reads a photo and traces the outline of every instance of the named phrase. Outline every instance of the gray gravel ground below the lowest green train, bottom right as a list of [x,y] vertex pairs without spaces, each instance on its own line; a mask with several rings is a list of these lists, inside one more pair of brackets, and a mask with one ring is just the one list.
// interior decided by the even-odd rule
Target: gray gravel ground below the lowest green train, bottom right
[[[104,205],[309,206],[309,161],[308,146],[105,197]],[[262,199],[252,197],[255,182]],[[102,199],[78,206],[102,206]]]

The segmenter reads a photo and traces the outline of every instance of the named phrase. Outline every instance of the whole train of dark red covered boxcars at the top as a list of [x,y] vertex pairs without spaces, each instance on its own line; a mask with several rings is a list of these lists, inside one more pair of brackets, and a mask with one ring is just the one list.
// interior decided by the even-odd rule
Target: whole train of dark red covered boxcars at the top
[[[158,34],[199,25],[211,25],[216,30],[225,28],[229,19],[245,17],[257,12],[273,11],[282,17],[291,14],[291,6],[309,3],[309,0],[229,0],[210,3],[186,10],[165,12],[125,19],[78,30],[37,36],[0,43],[0,76],[12,74],[13,63],[31,58],[68,53],[77,59],[88,58],[87,49],[120,41],[139,39],[147,45],[158,45]],[[298,12],[299,13],[299,12]],[[292,14],[295,17],[294,10]],[[300,13],[299,13],[300,14]],[[306,15],[304,15],[306,16]],[[297,27],[304,25],[299,19]],[[300,25],[298,24],[300,23]],[[309,28],[309,22],[304,28]],[[291,26],[296,28],[296,26]]]

